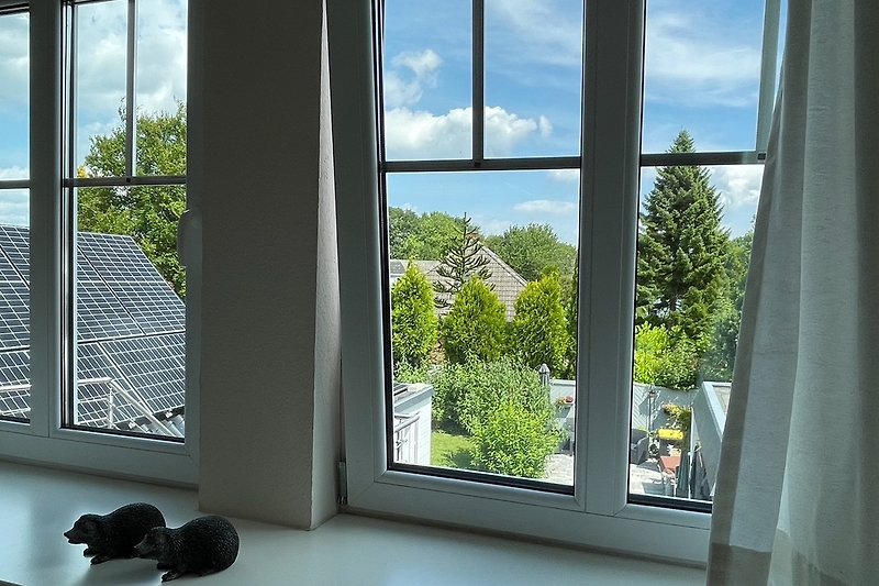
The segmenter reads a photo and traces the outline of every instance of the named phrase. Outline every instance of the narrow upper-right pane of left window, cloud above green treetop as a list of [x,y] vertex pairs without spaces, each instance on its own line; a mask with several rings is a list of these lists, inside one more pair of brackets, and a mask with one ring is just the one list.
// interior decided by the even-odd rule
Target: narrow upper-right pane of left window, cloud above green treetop
[[138,175],[186,174],[186,14],[185,0],[137,3]]

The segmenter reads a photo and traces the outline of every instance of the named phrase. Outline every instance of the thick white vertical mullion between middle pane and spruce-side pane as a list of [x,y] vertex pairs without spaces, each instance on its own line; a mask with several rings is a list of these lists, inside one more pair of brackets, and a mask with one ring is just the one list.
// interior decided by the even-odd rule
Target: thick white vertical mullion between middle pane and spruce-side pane
[[577,436],[586,450],[575,489],[587,511],[616,515],[628,473],[644,2],[587,2],[585,19]]

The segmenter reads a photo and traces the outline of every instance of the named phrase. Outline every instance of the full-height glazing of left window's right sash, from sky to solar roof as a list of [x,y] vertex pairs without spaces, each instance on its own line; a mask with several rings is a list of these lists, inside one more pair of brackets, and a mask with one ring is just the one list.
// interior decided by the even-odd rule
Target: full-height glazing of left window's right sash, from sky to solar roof
[[[185,435],[186,4],[69,9],[71,427]],[[134,115],[129,115],[134,112]],[[73,225],[73,222],[71,222]],[[74,350],[75,349],[75,350]]]

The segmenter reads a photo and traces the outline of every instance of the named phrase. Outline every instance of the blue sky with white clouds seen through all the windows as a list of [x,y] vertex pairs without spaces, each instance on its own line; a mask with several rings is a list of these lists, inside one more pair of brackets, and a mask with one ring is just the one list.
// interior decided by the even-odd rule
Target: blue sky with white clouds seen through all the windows
[[[76,159],[115,128],[125,88],[125,4],[79,9]],[[681,129],[699,151],[755,144],[763,0],[648,0],[643,152]],[[469,0],[387,0],[385,104],[389,159],[470,155]],[[140,0],[137,108],[186,100],[185,0]],[[579,155],[582,3],[486,1],[486,154]],[[0,183],[27,177],[27,20],[0,16]],[[761,166],[713,167],[733,235],[746,232]],[[649,191],[655,169],[642,174]],[[485,234],[548,223],[577,240],[576,170],[405,174],[389,203],[472,217]],[[0,222],[26,225],[27,195],[0,189]]]

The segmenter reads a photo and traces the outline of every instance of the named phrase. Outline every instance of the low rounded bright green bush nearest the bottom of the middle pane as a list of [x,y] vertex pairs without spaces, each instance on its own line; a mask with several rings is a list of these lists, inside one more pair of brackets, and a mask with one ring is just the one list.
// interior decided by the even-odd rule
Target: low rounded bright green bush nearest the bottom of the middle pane
[[496,474],[542,477],[561,439],[548,423],[514,400],[496,405],[474,429],[474,464]]

